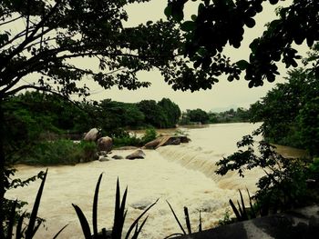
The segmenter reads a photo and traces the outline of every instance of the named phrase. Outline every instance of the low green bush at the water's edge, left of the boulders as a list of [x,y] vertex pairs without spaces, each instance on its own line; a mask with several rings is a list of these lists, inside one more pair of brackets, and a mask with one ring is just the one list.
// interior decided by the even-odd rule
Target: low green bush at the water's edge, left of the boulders
[[94,160],[96,144],[81,141],[74,143],[71,140],[59,139],[44,141],[31,147],[28,154],[18,158],[18,163],[24,164],[77,164]]

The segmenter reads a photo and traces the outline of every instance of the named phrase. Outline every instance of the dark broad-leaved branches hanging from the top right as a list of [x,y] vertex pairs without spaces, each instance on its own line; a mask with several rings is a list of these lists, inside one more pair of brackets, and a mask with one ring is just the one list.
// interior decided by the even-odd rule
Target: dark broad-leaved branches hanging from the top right
[[[279,61],[287,68],[297,66],[301,56],[295,45],[306,42],[311,47],[319,40],[319,2],[293,0],[291,5],[277,8],[278,18],[252,41],[249,60],[232,63],[229,57],[222,55],[225,46],[241,47],[244,29],[255,25],[254,16],[262,12],[262,3],[277,5],[279,0],[205,0],[198,5],[198,14],[185,21],[183,8],[188,2],[170,0],[165,14],[172,22],[180,22],[185,39],[182,54],[190,58],[194,69],[205,69],[205,75],[201,76],[206,81],[200,84],[206,87],[218,82],[221,74],[228,75],[229,81],[239,80],[242,71],[250,87],[263,85],[265,79],[273,82],[279,75]],[[314,72],[319,75],[319,58],[313,60]],[[175,81],[184,84],[183,77],[181,69]]]

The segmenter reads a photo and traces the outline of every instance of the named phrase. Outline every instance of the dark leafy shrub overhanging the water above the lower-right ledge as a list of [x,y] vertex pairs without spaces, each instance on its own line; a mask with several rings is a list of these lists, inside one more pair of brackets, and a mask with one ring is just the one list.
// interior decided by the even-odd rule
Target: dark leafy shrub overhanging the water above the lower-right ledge
[[247,146],[247,149],[221,159],[217,163],[219,169],[216,173],[224,175],[237,171],[243,177],[245,170],[262,168],[265,175],[257,182],[258,190],[252,196],[261,215],[283,212],[313,200],[308,194],[308,169],[304,160],[284,158],[276,153],[273,145],[263,141],[258,146],[259,154],[255,154],[252,135],[243,136],[237,146]]

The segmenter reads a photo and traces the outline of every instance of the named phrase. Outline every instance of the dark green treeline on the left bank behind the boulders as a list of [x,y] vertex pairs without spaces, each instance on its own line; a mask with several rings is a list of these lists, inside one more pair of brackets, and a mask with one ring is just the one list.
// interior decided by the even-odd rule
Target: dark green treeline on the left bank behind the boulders
[[71,103],[57,95],[26,92],[7,99],[4,107],[7,134],[30,141],[44,134],[82,134],[92,127],[120,136],[128,128],[175,127],[180,120],[180,107],[168,98]]

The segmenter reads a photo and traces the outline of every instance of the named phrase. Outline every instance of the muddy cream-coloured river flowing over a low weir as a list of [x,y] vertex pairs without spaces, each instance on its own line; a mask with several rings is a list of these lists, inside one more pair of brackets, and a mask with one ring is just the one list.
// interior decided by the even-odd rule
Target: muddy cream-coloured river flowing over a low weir
[[[110,229],[114,216],[115,187],[119,178],[122,192],[128,185],[128,215],[124,229],[142,212],[139,206],[160,198],[149,211],[149,219],[140,238],[163,238],[180,233],[166,200],[180,221],[184,221],[183,206],[188,206],[193,231],[197,231],[199,211],[203,229],[216,225],[229,207],[230,198],[237,199],[238,189],[253,192],[260,171],[249,172],[242,179],[237,174],[219,176],[215,163],[237,150],[236,142],[251,134],[260,124],[210,124],[184,129],[191,139],[188,144],[168,145],[157,150],[144,150],[140,160],[114,160],[86,164],[50,166],[38,215],[46,219],[36,238],[52,238],[65,224],[59,238],[83,238],[77,215],[71,204],[77,204],[91,222],[91,206],[98,175],[104,172],[98,201],[98,228]],[[257,139],[258,140],[258,139]],[[285,148],[286,149],[286,148]],[[286,154],[289,150],[286,149]],[[127,155],[132,151],[113,151]],[[17,165],[17,177],[26,179],[45,167]],[[30,208],[40,182],[25,188],[10,190],[7,196],[29,202]],[[184,223],[184,222],[183,222]],[[186,226],[185,226],[186,228]]]

